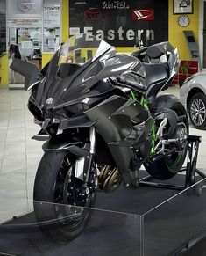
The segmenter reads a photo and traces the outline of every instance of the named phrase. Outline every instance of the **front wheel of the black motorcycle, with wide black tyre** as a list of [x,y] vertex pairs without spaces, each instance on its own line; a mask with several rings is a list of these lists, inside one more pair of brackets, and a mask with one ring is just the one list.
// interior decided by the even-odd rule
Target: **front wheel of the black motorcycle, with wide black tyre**
[[[85,191],[75,177],[75,156],[67,150],[46,151],[39,163],[33,206],[40,230],[53,241],[66,243],[78,237],[89,223],[96,189]],[[94,180],[92,180],[94,179]],[[96,172],[89,181],[95,184]]]

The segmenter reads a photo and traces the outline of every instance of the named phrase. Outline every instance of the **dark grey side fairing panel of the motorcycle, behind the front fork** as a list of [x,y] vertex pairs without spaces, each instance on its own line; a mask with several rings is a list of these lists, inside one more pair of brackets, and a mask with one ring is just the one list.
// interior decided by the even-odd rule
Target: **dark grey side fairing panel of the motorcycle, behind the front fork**
[[[131,120],[141,116],[139,122],[146,121],[148,119],[146,109],[136,100],[112,96],[98,106],[89,109],[85,114],[90,121],[96,121],[96,130],[108,144],[120,172],[128,171],[132,143],[135,143],[132,141],[130,144],[126,141],[133,130]],[[125,141],[126,145],[121,144]]]

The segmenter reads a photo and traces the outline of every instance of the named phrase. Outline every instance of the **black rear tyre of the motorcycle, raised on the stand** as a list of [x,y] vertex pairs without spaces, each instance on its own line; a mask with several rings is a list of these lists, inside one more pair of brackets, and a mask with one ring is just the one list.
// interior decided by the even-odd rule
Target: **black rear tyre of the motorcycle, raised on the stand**
[[[159,99],[158,106],[156,106],[158,109],[169,108],[174,110],[174,112],[179,116],[185,115],[183,123],[187,128],[188,133],[187,113],[181,102],[178,99],[175,100],[174,97],[170,98],[170,96],[161,96],[160,98],[163,100]],[[153,161],[152,159],[146,161],[144,164],[146,172],[148,172],[155,179],[173,178],[177,172],[180,172],[187,155],[187,150],[188,143],[185,143],[184,148],[179,152],[175,152],[171,157],[164,157],[156,161]]]

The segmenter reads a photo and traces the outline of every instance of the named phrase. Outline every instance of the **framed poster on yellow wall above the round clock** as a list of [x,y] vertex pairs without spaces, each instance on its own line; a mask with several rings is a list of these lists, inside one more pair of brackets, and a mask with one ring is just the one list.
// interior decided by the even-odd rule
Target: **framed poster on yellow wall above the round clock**
[[173,0],[174,14],[192,14],[193,0]]

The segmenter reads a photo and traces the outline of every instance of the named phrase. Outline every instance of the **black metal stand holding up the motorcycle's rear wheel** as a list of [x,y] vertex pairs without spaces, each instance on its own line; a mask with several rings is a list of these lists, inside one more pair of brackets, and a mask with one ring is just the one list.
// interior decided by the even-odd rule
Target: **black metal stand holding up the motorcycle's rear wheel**
[[201,136],[188,135],[188,163],[187,166],[182,167],[180,171],[186,172],[184,186],[169,185],[166,183],[150,181],[153,179],[153,177],[150,175],[139,180],[140,186],[184,190],[185,188],[195,184],[195,173],[197,173],[202,179],[206,178],[206,175],[203,172],[196,169],[196,160],[201,140]]

